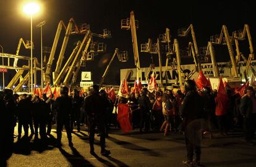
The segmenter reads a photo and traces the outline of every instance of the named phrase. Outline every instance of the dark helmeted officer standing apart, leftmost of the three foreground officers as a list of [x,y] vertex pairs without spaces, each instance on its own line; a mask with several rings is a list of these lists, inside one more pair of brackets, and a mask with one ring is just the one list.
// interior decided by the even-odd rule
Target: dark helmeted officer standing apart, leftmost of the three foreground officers
[[70,116],[72,112],[72,99],[68,96],[69,88],[66,86],[61,88],[61,97],[58,97],[54,103],[57,111],[57,147],[61,147],[62,128],[65,126],[69,147],[73,147]]

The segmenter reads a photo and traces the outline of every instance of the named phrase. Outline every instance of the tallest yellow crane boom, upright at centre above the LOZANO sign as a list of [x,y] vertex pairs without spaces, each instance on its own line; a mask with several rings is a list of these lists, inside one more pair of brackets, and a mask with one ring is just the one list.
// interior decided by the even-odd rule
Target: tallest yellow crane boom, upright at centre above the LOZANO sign
[[139,80],[140,76],[140,58],[139,58],[139,49],[137,43],[137,33],[136,29],[139,28],[138,20],[135,20],[134,11],[130,12],[130,18],[125,20],[121,20],[121,29],[130,30],[132,33],[132,46],[134,49],[134,62],[137,68],[137,75],[136,78]]

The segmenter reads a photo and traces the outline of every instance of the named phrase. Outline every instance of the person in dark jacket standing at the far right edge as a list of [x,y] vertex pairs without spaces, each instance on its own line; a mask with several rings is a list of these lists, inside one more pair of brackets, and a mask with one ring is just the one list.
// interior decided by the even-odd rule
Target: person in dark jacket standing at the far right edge
[[240,111],[244,118],[245,141],[250,145],[254,145],[252,139],[255,132],[256,98],[252,86],[247,88],[246,94],[241,99]]

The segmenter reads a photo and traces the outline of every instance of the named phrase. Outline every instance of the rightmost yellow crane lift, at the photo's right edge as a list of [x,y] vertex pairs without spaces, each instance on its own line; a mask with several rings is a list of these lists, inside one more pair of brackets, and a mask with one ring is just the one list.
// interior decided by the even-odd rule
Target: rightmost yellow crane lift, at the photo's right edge
[[[234,35],[234,41],[236,44],[236,54],[237,54],[236,62],[239,62],[241,57],[242,57],[242,59],[244,59],[244,62],[246,63],[245,70],[244,70],[244,78],[245,78],[245,81],[248,81],[247,71],[248,71],[249,67],[252,69],[252,72],[254,73],[254,75],[256,75],[256,71],[250,65],[251,61],[254,59],[254,46],[252,44],[252,36],[250,35],[249,25],[245,24],[244,30],[234,31],[233,35]],[[250,54],[249,54],[248,60],[244,57],[243,54],[241,54],[240,49],[239,49],[239,42],[238,42],[238,41],[244,40],[246,35],[247,35],[247,39],[249,42],[249,49],[250,49]]]

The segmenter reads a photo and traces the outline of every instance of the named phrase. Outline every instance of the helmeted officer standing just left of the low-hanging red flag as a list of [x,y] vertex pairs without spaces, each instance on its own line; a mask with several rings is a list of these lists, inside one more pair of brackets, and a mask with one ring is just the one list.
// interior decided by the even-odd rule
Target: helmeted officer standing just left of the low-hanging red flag
[[106,103],[102,96],[99,94],[99,86],[94,84],[90,87],[90,95],[85,97],[84,110],[88,116],[89,122],[89,141],[90,153],[95,155],[94,152],[94,135],[95,127],[100,131],[100,145],[101,155],[109,155],[110,151],[105,149],[105,119],[106,119]]

